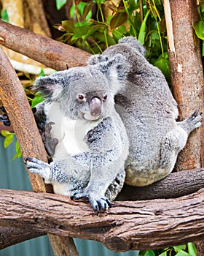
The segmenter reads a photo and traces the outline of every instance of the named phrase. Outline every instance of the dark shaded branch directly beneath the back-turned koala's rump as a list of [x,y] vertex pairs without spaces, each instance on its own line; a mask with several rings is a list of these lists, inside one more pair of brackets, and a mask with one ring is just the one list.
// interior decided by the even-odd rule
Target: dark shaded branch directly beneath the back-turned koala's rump
[[204,169],[185,170],[179,173],[170,173],[146,187],[130,187],[125,185],[116,200],[134,201],[157,198],[176,198],[189,195],[204,187]]

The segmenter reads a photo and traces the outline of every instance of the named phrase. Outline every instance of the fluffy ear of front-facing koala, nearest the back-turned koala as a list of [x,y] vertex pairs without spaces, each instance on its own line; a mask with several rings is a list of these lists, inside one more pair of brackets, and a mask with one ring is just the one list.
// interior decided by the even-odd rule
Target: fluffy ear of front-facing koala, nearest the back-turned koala
[[[104,57],[106,59],[104,59]],[[103,56],[103,60],[99,61],[97,65],[101,72],[106,75],[107,79],[109,80],[110,89],[114,91],[114,94],[116,94],[117,91],[124,86],[127,74],[130,71],[130,66],[125,57],[120,53],[117,53],[110,59]]]

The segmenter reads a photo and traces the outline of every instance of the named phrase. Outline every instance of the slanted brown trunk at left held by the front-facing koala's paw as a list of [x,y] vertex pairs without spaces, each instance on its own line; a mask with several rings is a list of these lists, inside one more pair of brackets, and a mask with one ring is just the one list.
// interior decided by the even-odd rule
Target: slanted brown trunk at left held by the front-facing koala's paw
[[[12,127],[14,128],[23,158],[36,157],[37,159],[47,162],[47,154],[42,143],[42,138],[36,127],[34,115],[28,104],[26,94],[23,91],[23,86],[21,86],[20,80],[18,80],[16,72],[9,63],[6,54],[1,49],[0,97],[4,104],[4,108],[7,110]],[[41,177],[29,172],[28,175],[34,191],[52,192],[52,187],[46,186]],[[60,244],[58,240],[62,243]],[[55,255],[78,255],[75,246],[73,246],[74,242],[72,242],[67,249],[68,242],[66,238],[59,238],[56,236],[55,239],[50,238],[50,241],[52,242],[52,248]],[[58,244],[63,246],[64,249],[59,248]],[[68,254],[65,254],[67,251]]]

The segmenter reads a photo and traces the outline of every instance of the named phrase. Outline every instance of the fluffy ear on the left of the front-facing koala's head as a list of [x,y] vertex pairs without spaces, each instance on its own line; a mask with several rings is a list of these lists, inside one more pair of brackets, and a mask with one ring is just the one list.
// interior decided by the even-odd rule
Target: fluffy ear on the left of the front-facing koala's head
[[40,91],[42,96],[45,98],[57,98],[63,89],[63,85],[60,83],[59,78],[58,73],[46,77],[36,78],[34,82],[34,89]]

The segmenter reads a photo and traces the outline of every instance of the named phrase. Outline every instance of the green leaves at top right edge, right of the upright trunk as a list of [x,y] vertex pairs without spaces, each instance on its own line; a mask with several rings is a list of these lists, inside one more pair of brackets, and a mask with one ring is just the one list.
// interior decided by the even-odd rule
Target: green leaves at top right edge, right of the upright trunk
[[198,12],[200,20],[196,21],[193,24],[193,28],[195,29],[195,34],[197,35],[197,37],[199,37],[203,41],[202,56],[204,56],[204,1],[200,1]]

